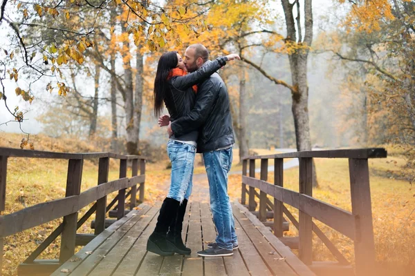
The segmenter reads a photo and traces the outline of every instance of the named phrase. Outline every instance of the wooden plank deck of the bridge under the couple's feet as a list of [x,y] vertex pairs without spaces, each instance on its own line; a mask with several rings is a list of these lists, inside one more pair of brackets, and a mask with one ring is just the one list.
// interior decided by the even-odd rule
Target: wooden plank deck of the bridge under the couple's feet
[[239,249],[231,257],[198,257],[216,237],[209,205],[190,201],[183,241],[192,255],[161,257],[146,250],[160,206],[141,205],[84,246],[53,276],[127,275],[314,275],[255,215],[233,203]]

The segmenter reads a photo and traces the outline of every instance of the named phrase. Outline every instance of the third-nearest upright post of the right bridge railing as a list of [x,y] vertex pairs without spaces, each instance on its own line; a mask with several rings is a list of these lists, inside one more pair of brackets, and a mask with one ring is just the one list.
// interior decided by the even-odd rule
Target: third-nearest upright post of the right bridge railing
[[[274,185],[283,187],[284,186],[284,159],[274,159]],[[274,235],[275,237],[283,237],[284,233],[282,230],[282,213],[283,203],[278,199],[274,198]]]

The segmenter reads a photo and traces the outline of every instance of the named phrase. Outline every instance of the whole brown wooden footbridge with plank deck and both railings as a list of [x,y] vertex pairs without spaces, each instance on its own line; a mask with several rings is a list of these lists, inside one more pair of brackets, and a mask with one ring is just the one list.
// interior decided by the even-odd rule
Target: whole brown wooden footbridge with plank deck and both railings
[[[246,157],[243,159],[241,203],[232,203],[239,249],[234,250],[232,257],[203,258],[197,257],[196,252],[214,241],[216,231],[209,205],[192,199],[187,206],[183,227],[183,240],[192,248],[192,255],[160,257],[146,251],[147,238],[156,224],[159,206],[145,204],[145,158],[109,152],[68,154],[0,148],[1,211],[4,211],[7,200],[9,157],[68,159],[66,197],[1,215],[0,248],[3,251],[4,237],[63,217],[63,223],[19,265],[19,275],[371,275],[376,264],[368,159],[386,156],[384,149],[370,148]],[[115,181],[108,181],[110,158],[120,160],[120,177]],[[299,159],[299,193],[284,188],[284,158]],[[351,213],[312,197],[313,158],[349,159]],[[98,186],[81,193],[85,159],[99,159]],[[255,179],[256,159],[261,160],[260,179]],[[274,159],[273,184],[268,183],[269,159]],[[127,177],[129,164],[131,177]],[[118,196],[107,205],[110,193],[118,193]],[[137,194],[143,203],[135,208]],[[131,197],[130,210],[125,210],[127,197]],[[77,212],[91,203],[93,206],[78,219]],[[284,204],[299,210],[298,220]],[[77,233],[77,229],[94,213],[95,233]],[[299,237],[284,237],[288,223],[283,214],[298,228]],[[273,217],[271,224],[267,221],[270,217]],[[312,218],[353,240],[354,266]],[[313,232],[338,262],[313,262]],[[59,235],[62,237],[59,259],[37,259]],[[75,246],[84,247],[75,254]],[[290,247],[299,249],[298,257]]]

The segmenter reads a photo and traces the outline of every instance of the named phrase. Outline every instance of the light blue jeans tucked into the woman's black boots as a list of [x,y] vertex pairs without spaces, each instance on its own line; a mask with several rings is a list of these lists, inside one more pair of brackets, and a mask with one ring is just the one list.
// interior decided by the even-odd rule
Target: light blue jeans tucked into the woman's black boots
[[169,140],[167,155],[172,162],[172,184],[170,184],[167,197],[182,203],[192,194],[193,164],[196,147]]

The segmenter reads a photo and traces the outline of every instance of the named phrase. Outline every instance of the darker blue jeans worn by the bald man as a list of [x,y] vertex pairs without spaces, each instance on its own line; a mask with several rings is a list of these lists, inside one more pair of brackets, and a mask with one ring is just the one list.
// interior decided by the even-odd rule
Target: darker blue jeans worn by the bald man
[[238,244],[235,221],[228,196],[228,172],[232,165],[232,148],[203,153],[209,180],[210,209],[218,232],[216,244],[232,250]]

